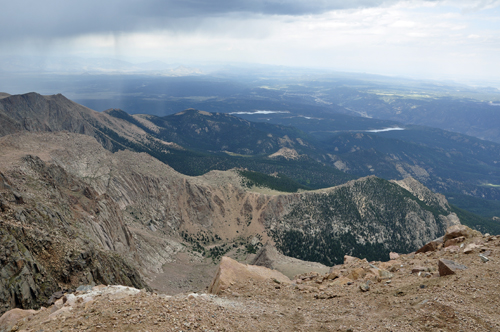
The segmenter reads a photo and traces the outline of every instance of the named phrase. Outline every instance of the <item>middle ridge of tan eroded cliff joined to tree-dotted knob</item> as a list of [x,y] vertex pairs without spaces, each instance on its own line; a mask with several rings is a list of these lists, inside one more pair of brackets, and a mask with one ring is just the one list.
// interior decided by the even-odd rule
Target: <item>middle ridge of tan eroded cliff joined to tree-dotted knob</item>
[[[393,184],[367,177],[320,191],[271,196],[244,189],[235,172],[188,177],[147,154],[111,154],[90,140],[51,156],[99,194],[111,197],[134,227],[142,225],[162,237],[186,232],[227,241],[259,234],[263,242],[276,241],[299,258],[301,250],[317,246],[312,242],[338,243],[330,261],[315,258],[325,264],[341,260],[345,251],[354,254],[349,247],[409,252],[457,222],[442,195],[411,178]],[[301,237],[301,244],[286,234]],[[336,250],[344,253],[334,258]],[[159,270],[165,262],[148,260],[147,268]]]

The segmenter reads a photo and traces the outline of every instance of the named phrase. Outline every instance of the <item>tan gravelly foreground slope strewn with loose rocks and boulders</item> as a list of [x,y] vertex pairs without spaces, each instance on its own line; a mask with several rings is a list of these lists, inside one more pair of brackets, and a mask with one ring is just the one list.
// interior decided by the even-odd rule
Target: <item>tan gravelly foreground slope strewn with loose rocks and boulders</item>
[[447,237],[459,246],[383,262],[346,256],[327,273],[292,280],[225,258],[213,280],[223,286],[217,295],[96,286],[39,311],[10,311],[0,331],[500,330],[492,305],[500,297],[500,239],[456,229]]

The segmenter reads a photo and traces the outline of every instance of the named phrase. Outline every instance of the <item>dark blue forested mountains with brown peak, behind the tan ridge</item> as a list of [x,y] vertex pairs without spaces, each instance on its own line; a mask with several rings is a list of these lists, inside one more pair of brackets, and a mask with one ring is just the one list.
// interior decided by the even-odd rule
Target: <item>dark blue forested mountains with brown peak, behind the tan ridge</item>
[[[403,126],[327,135],[327,129],[339,128],[335,119],[277,114],[272,121],[281,124],[270,124],[194,109],[165,117],[118,109],[98,113],[62,95],[35,93],[5,96],[0,117],[3,135],[19,130],[84,133],[111,151],[148,152],[188,175],[243,167],[280,173],[310,188],[366,175],[412,176],[437,192],[500,199],[495,186],[500,183],[500,144],[440,129]],[[277,153],[281,149],[295,157],[284,158]]]

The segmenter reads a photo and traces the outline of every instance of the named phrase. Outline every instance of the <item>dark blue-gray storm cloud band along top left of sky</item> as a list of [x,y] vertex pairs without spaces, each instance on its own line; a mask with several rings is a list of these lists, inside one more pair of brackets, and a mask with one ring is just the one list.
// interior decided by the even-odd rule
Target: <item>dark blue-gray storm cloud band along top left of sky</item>
[[[184,29],[205,17],[307,15],[375,7],[398,0],[17,0],[0,11],[0,40],[64,38],[89,33]],[[189,22],[182,24],[182,20]]]

